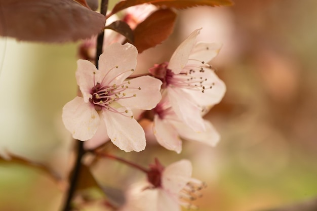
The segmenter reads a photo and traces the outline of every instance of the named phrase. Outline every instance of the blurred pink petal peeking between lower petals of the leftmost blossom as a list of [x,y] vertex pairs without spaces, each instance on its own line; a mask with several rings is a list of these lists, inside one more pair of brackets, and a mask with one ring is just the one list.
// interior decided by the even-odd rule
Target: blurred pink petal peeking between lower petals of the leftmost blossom
[[110,139],[108,137],[106,125],[104,121],[100,121],[100,125],[98,127],[96,134],[90,140],[85,141],[84,146],[85,149],[88,150],[95,149],[108,141],[110,141]]

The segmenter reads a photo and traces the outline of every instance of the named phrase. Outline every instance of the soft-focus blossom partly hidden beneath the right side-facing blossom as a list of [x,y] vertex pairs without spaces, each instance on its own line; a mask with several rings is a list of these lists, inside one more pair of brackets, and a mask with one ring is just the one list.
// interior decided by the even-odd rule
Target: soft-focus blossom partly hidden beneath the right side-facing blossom
[[180,137],[215,146],[220,136],[208,120],[204,120],[206,131],[195,132],[183,123],[175,114],[167,98],[164,98],[153,109],[154,111],[154,136],[163,147],[174,150],[177,153],[182,151],[182,141]]

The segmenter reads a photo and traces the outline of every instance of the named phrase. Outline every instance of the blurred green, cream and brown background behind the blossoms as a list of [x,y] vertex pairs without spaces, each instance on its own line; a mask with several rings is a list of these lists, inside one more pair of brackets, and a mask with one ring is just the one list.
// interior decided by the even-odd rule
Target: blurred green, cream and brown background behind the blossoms
[[[208,184],[197,201],[202,211],[261,211],[317,197],[316,24],[314,0],[236,0],[228,8],[179,11],[174,34],[140,55],[137,72],[168,61],[196,28],[203,27],[200,40],[223,43],[211,64],[227,93],[205,116],[221,141],[215,148],[184,141],[180,155],[155,143],[142,153],[115,152],[144,166],[154,157],[166,165],[190,159],[193,176]],[[61,112],[76,95],[78,44],[1,38],[1,155],[67,176],[73,142]],[[101,161],[94,174],[123,188],[135,171],[113,162]],[[58,210],[64,189],[36,168],[0,162],[0,210]]]

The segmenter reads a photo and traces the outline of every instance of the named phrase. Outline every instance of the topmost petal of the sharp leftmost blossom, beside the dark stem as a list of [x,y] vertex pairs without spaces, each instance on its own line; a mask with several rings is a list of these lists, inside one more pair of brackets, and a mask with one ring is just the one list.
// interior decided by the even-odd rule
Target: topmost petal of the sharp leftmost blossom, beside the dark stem
[[96,80],[110,86],[114,83],[121,84],[135,69],[137,55],[137,49],[129,43],[107,46],[99,57]]

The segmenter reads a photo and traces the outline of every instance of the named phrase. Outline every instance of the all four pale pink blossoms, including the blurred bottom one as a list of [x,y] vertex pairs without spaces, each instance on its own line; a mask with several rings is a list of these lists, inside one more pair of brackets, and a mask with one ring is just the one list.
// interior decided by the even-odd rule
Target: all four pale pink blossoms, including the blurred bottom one
[[[106,134],[103,140],[109,139],[121,150],[144,150],[145,133],[132,112],[140,109],[141,117],[152,120],[154,136],[166,149],[180,153],[181,138],[215,146],[220,136],[203,115],[221,101],[226,90],[208,64],[221,45],[196,43],[200,30],[180,44],[169,62],[155,64],[139,77],[131,77],[138,52],[129,43],[107,42],[98,69],[88,60],[78,60],[75,75],[82,96],[68,102],[62,114],[72,137],[92,140],[101,131]],[[115,41],[120,40],[117,38]],[[126,203],[117,210],[177,211],[180,205],[194,208],[191,201],[200,196],[204,184],[192,179],[191,172],[188,160],[167,167],[155,160],[145,171],[147,182],[129,190]]]

